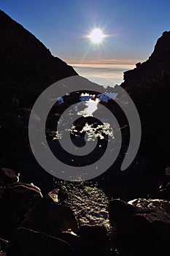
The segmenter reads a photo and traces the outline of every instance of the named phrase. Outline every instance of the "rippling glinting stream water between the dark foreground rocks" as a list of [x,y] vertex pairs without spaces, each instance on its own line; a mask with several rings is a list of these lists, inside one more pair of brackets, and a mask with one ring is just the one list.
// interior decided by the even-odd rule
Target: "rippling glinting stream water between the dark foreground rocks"
[[72,208],[80,226],[104,225],[107,230],[111,229],[107,211],[109,200],[97,184],[61,181],[61,191],[60,203]]

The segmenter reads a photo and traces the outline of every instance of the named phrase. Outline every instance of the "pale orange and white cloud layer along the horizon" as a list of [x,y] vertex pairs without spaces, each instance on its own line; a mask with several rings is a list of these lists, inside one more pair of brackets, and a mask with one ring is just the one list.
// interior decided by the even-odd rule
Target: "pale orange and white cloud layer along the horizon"
[[123,72],[134,69],[139,59],[65,59],[79,75],[102,86],[123,82]]

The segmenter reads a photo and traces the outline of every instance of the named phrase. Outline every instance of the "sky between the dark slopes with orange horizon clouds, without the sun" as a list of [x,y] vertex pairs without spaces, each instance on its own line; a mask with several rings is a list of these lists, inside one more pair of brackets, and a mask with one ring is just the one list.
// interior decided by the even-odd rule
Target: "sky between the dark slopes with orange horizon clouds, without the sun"
[[[0,0],[0,8],[82,75],[114,83],[170,30],[169,0]],[[87,37],[96,27],[107,35],[99,45]]]

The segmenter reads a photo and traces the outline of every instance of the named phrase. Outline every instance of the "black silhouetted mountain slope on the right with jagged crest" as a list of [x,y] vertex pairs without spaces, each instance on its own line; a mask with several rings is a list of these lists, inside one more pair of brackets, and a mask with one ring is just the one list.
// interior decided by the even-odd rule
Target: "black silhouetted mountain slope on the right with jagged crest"
[[142,152],[156,169],[169,166],[170,31],[163,32],[147,61],[124,73],[123,88],[131,95],[142,121]]

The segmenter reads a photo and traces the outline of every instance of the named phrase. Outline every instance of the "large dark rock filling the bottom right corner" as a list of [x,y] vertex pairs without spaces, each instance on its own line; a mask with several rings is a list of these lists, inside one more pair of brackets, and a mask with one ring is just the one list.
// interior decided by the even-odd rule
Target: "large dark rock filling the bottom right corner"
[[165,212],[112,200],[109,220],[116,228],[115,246],[121,255],[167,255],[169,252],[170,217]]

